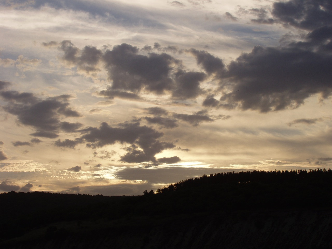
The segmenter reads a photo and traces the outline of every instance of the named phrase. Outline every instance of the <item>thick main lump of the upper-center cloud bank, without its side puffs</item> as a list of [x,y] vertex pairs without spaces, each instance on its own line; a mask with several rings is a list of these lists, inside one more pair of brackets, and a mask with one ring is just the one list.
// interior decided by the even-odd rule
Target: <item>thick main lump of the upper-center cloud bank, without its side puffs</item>
[[113,81],[112,89],[137,92],[144,87],[158,94],[172,89],[169,73],[178,61],[166,53],[146,56],[138,51],[137,47],[123,43],[105,52],[103,58]]

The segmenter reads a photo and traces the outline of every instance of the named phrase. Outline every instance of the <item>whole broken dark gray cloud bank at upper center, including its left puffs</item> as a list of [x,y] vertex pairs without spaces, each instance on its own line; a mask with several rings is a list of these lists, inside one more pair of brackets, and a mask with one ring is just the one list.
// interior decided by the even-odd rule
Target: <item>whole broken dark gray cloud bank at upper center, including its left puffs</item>
[[[148,49],[146,46],[144,48]],[[60,49],[64,51],[63,61],[70,66],[76,65],[78,70],[87,73],[100,70],[98,63],[103,60],[112,84],[100,91],[99,95],[107,98],[139,99],[141,90],[156,94],[172,93],[173,98],[177,99],[195,98],[203,93],[200,82],[205,79],[205,73],[181,70],[181,61],[164,52],[143,55],[139,54],[137,47],[123,43],[103,53],[90,46],[80,50],[71,41],[62,41]],[[164,50],[176,52],[178,48],[168,46]],[[210,58],[208,54],[202,55],[203,53],[204,51],[197,51],[197,57],[210,72],[213,70]],[[217,58],[214,60],[220,61]]]

